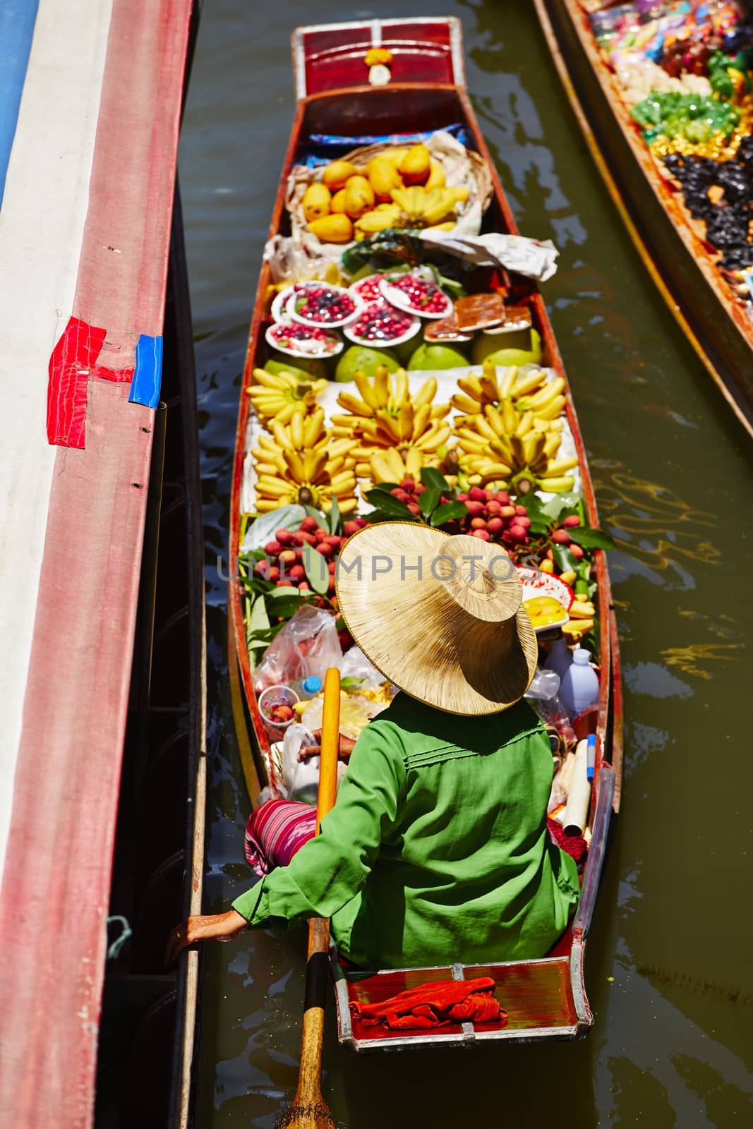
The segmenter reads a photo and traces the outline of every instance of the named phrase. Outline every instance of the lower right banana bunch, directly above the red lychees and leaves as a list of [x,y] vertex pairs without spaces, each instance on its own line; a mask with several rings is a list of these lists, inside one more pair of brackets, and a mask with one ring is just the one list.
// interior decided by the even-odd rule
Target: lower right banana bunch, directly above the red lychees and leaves
[[[508,431],[513,420],[514,431]],[[467,456],[466,464],[484,482],[506,481],[520,492],[548,490],[562,493],[571,490],[575,480],[567,474],[578,465],[577,458],[555,460],[561,436],[557,431],[534,428],[532,412],[519,415],[509,401],[505,401],[501,412],[487,404],[483,415],[473,417],[474,427],[456,421],[455,435],[461,450]]]

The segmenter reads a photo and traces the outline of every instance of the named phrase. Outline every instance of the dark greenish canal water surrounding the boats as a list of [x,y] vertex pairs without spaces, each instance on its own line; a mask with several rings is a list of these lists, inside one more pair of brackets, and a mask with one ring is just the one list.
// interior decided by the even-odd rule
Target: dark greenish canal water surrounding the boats
[[[205,0],[181,178],[200,380],[209,598],[207,910],[248,884],[227,692],[235,417],[256,273],[294,113],[289,35],[400,6]],[[467,84],[545,286],[603,524],[625,680],[622,815],[588,943],[581,1043],[357,1059],[330,1016],[339,1127],[753,1124],[751,467],[742,432],[655,292],[518,0],[458,15]],[[199,1124],[271,1129],[297,1079],[303,936],[205,952]]]

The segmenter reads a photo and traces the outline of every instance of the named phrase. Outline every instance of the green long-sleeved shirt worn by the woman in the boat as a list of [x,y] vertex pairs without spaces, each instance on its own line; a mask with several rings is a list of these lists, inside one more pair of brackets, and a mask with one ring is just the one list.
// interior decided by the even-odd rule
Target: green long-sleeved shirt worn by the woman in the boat
[[330,917],[371,969],[543,956],[579,890],[546,831],[551,782],[526,702],[458,717],[401,693],[359,737],[321,834],[234,909],[260,927]]

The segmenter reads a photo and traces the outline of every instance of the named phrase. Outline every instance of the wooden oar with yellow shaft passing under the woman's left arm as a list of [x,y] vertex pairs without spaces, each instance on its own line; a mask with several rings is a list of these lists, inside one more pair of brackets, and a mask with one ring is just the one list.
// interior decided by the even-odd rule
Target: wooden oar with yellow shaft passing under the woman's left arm
[[[322,756],[316,803],[316,833],[334,804],[338,790],[338,751],[340,747],[340,671],[332,667],[324,682]],[[312,918],[308,922],[308,959],[304,994],[304,1023],[300,1035],[298,1089],[292,1104],[278,1126],[295,1129],[334,1129],[332,1114],[322,1097],[322,1040],[324,1005],[329,980],[330,920]]]

